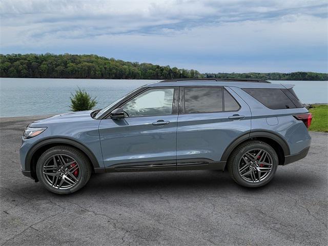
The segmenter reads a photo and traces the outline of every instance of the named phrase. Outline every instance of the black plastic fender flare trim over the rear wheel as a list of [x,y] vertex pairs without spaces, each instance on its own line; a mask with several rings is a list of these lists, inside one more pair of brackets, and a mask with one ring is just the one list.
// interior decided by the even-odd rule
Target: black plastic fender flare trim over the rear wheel
[[282,148],[284,156],[290,155],[289,146],[288,146],[287,142],[282,138],[282,136],[279,136],[275,132],[260,130],[260,131],[252,131],[252,132],[245,133],[245,134],[237,137],[235,140],[233,140],[231,142],[231,144],[226,148],[226,150],[224,150],[222,157],[221,157],[221,161],[227,161],[231,152],[238,145],[240,145],[243,141],[246,141],[246,140],[254,138],[254,137],[265,137],[265,138],[274,140]]

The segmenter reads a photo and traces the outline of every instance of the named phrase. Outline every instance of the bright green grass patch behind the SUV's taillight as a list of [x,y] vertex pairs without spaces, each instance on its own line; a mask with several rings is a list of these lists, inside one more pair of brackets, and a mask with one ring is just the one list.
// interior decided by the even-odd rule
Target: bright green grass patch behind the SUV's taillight
[[309,131],[328,132],[328,105],[312,105],[312,123]]

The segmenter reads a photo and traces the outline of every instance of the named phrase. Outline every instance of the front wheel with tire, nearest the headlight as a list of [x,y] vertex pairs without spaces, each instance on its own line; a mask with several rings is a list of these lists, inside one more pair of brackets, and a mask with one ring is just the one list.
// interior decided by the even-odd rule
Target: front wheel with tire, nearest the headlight
[[38,180],[47,190],[61,195],[76,192],[84,187],[91,172],[91,163],[86,155],[69,146],[48,149],[36,163]]

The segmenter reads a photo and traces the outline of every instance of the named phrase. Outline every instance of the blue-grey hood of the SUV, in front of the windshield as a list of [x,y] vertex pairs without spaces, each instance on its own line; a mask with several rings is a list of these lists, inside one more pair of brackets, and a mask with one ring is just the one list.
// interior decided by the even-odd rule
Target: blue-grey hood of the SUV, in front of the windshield
[[84,121],[84,120],[94,120],[91,118],[91,112],[94,110],[87,110],[87,111],[78,111],[78,112],[71,112],[65,114],[58,114],[46,119],[40,119],[34,121],[31,125],[41,126],[43,124],[51,124],[56,122],[70,122],[70,121]]

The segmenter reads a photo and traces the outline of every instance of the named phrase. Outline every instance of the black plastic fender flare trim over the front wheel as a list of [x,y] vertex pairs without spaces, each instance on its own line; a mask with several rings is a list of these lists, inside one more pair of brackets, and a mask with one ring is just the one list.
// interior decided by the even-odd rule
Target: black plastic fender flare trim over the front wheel
[[33,147],[29,150],[25,157],[25,169],[26,170],[31,170],[31,161],[33,155],[42,147],[47,146],[47,145],[70,145],[75,147],[76,149],[79,149],[80,151],[84,152],[90,159],[91,164],[94,168],[99,168],[99,163],[95,155],[92,153],[92,151],[86,147],[84,144],[81,144],[80,142],[77,142],[76,140],[69,139],[69,138],[64,138],[64,137],[55,137],[55,138],[47,138],[44,140],[41,140],[37,142]]

